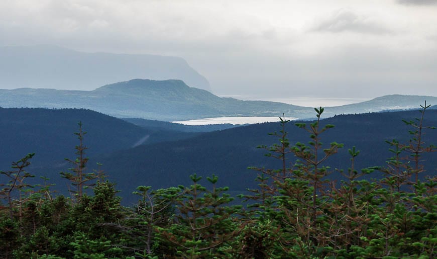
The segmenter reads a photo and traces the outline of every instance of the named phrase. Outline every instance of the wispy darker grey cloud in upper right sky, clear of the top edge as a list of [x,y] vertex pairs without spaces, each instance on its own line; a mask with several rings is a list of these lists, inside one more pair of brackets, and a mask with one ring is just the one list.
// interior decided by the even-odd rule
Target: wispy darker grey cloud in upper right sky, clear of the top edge
[[330,17],[316,22],[313,31],[320,32],[357,32],[366,34],[387,34],[390,30],[374,21],[371,17],[359,16],[352,10],[340,9]]

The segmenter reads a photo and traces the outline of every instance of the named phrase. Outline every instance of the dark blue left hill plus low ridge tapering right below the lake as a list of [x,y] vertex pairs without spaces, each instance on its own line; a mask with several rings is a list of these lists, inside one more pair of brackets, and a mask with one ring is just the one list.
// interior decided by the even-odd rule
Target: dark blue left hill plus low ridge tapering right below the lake
[[[74,147],[79,144],[73,132],[82,123],[86,155],[90,158],[87,171],[97,169],[97,159],[119,150],[129,150],[145,143],[169,142],[193,138],[198,131],[211,131],[203,126],[144,121],[137,126],[127,121],[83,109],[0,108],[0,170],[10,170],[12,161],[18,161],[27,153],[36,153],[28,167],[36,175],[32,183],[40,183],[39,176],[49,177],[55,190],[63,190],[65,181],[59,172],[71,166],[65,158],[75,159]],[[151,126],[145,125],[145,122]],[[222,125],[235,127],[234,125]],[[177,128],[183,131],[175,130]],[[197,128],[197,129],[196,129]],[[209,129],[206,129],[209,128]],[[131,170],[129,165],[125,170]],[[0,184],[8,180],[0,175]],[[128,190],[128,189],[125,189]],[[64,190],[65,191],[65,190]],[[128,190],[131,191],[131,190]]]

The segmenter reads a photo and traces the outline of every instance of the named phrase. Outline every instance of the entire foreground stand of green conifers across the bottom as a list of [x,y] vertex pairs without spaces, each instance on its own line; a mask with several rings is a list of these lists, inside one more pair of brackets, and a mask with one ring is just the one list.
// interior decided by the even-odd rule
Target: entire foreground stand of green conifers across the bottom
[[[392,156],[385,164],[365,168],[357,161],[366,154],[326,137],[335,126],[320,123],[323,111],[315,109],[315,121],[295,123],[306,142],[290,141],[287,127],[293,122],[280,119],[280,128],[271,133],[278,142],[259,146],[280,166],[253,167],[256,187],[239,197],[230,195],[232,190],[223,187],[216,175],[203,179],[193,174],[186,185],[157,190],[138,186],[132,190],[137,202],[128,207],[121,205],[117,186],[104,171],[85,170],[86,132],[79,123],[76,155],[66,160],[70,169],[59,175],[69,182],[67,187],[53,186],[47,178],[30,184],[37,177],[30,166],[34,153],[1,171],[5,181],[0,183],[0,254],[3,258],[435,257],[437,168],[427,168],[423,161],[435,159],[429,154],[436,150],[424,141],[426,134],[435,134],[435,125],[424,123],[429,106],[425,103],[420,113],[415,111],[416,119],[404,120],[405,139],[386,140]],[[348,169],[336,169],[343,167],[333,167],[330,161],[345,148],[349,157],[342,164]],[[382,177],[373,177],[376,173]],[[335,181],[330,174],[343,178]]]

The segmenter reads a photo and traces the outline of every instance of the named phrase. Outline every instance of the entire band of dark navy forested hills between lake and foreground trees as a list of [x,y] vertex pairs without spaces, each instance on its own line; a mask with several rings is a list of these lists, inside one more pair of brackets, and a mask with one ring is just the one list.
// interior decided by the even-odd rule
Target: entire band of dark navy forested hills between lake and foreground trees
[[[345,148],[326,161],[326,165],[333,169],[330,180],[341,179],[335,168],[347,170],[350,167],[348,148],[352,146],[361,150],[356,160],[357,168],[384,165],[392,155],[384,140],[407,141],[411,128],[401,120],[414,120],[419,116],[417,111],[403,111],[338,115],[322,120],[322,125],[336,125],[321,135],[322,142],[345,144]],[[96,168],[96,162],[103,163],[102,169],[108,180],[117,183],[127,203],[133,201],[130,194],[139,185],[150,185],[155,189],[185,185],[189,184],[188,176],[193,173],[202,176],[215,174],[219,176],[221,186],[229,186],[231,191],[241,193],[256,185],[257,172],[247,169],[248,166],[280,166],[278,160],[263,155],[266,150],[256,148],[260,144],[278,142],[278,137],[267,134],[279,131],[278,123],[199,132],[202,127],[187,130],[183,125],[168,122],[134,120],[142,124],[139,127],[90,110],[0,109],[0,169],[8,170],[11,161],[28,152],[36,152],[28,171],[49,177],[51,183],[57,184],[53,189],[64,190],[65,182],[59,177],[59,172],[69,167],[65,157],[75,158],[74,146],[78,140],[73,132],[77,131],[79,120],[87,131],[88,171]],[[437,125],[437,110],[426,112],[424,125]],[[294,122],[287,124],[286,130],[292,144],[310,140],[304,130],[294,126]],[[426,144],[437,143],[434,131],[425,131],[423,141]],[[426,160],[426,175],[435,176],[437,172],[435,154],[421,157]],[[290,156],[288,161],[294,159]],[[380,178],[381,172],[369,177]]]

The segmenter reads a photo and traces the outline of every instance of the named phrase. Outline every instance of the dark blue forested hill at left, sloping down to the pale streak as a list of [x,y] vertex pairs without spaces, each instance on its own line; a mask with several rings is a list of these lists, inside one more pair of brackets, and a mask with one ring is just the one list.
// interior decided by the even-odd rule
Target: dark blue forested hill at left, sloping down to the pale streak
[[75,157],[78,144],[78,122],[83,124],[86,153],[110,153],[131,148],[150,131],[126,121],[80,109],[0,108],[0,167],[5,170],[12,161],[35,152],[35,166],[63,164],[64,158]]

